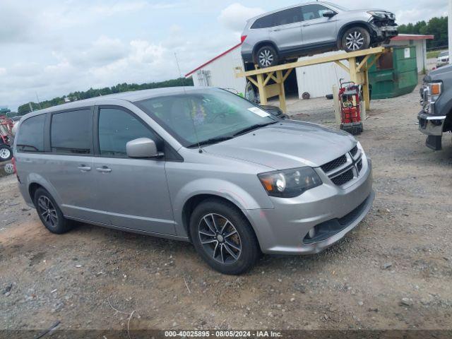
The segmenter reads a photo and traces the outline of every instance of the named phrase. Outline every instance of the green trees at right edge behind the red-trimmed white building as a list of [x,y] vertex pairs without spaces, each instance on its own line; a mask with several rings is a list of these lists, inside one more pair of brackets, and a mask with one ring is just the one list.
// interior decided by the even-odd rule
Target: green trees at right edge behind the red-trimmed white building
[[399,25],[398,32],[400,34],[434,35],[433,40],[427,40],[428,49],[446,47],[448,45],[447,16],[434,17],[428,22],[422,20],[417,21],[415,24]]

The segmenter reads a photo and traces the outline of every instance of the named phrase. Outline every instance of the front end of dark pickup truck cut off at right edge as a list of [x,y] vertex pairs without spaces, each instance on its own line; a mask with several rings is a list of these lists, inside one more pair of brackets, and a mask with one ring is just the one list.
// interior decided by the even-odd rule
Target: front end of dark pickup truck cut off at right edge
[[428,73],[420,94],[419,129],[427,134],[427,147],[441,150],[443,133],[452,131],[452,65]]

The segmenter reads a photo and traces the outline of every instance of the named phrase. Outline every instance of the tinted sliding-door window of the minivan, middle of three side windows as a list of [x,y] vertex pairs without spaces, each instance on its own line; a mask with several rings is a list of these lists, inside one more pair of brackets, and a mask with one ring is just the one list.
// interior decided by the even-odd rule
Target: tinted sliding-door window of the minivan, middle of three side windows
[[57,153],[92,153],[93,114],[91,109],[53,114],[50,145],[52,151]]

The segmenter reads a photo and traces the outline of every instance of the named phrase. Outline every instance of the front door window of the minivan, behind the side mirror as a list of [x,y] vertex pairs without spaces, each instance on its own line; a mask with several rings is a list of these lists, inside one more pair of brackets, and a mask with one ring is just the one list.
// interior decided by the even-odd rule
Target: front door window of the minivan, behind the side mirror
[[99,148],[102,157],[127,157],[126,143],[137,138],[158,142],[155,133],[133,114],[117,108],[100,109]]

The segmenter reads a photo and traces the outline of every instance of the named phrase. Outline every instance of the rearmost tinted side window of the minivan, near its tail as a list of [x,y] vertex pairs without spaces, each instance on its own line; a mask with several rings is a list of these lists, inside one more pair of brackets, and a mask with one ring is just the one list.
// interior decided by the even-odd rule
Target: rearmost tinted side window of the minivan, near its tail
[[18,152],[44,152],[45,114],[26,119],[20,124]]

